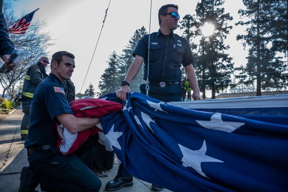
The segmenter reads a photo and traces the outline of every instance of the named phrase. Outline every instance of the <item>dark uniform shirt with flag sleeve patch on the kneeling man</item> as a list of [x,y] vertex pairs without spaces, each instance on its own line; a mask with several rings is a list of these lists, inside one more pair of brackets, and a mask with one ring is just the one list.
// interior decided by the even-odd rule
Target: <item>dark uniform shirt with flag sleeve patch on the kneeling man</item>
[[52,73],[38,85],[32,99],[26,148],[57,144],[55,123],[58,120],[55,117],[63,113],[73,114],[64,91],[63,83]]

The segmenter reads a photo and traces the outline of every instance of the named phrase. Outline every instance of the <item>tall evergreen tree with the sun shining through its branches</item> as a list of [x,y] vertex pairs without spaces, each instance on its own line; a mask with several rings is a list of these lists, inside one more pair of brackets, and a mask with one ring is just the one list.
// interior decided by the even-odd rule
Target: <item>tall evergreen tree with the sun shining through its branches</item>
[[[224,45],[229,30],[227,21],[232,20],[229,13],[224,13],[223,0],[202,0],[197,3],[195,15],[195,32],[194,36],[201,36],[199,43],[197,60],[195,67],[198,77],[199,88],[205,98],[205,90],[212,91],[212,99],[215,93],[226,89],[231,83],[230,75],[233,64],[232,57],[225,53],[229,45]],[[202,34],[201,28],[210,23],[214,26],[214,33],[206,37]],[[192,35],[192,37],[194,37]]]

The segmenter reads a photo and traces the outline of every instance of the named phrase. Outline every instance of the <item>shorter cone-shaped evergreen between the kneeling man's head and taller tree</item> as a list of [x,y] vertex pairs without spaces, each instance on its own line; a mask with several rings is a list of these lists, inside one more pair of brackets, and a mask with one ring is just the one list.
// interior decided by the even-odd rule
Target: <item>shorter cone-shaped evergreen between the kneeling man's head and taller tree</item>
[[100,93],[98,93],[99,96],[111,92],[117,92],[118,89],[120,88],[119,87],[120,58],[115,51],[113,51],[112,54],[110,54],[107,63],[108,67],[101,75],[101,80],[98,85],[98,88],[100,89]]

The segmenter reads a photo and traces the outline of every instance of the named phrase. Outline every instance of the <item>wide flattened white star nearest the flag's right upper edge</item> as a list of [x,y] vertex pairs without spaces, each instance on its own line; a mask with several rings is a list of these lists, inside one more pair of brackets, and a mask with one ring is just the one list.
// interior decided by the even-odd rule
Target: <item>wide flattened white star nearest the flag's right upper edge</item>
[[214,115],[212,115],[211,121],[196,120],[196,122],[207,129],[225,131],[230,133],[245,124],[239,122],[222,121],[221,113],[215,113]]

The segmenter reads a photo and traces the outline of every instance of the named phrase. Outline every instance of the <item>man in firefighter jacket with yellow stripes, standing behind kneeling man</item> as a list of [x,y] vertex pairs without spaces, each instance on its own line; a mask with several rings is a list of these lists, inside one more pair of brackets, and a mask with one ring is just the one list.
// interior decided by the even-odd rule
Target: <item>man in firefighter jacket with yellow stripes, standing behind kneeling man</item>
[[38,62],[31,65],[26,72],[22,89],[22,111],[24,113],[20,128],[22,140],[26,140],[28,138],[30,106],[33,94],[39,83],[41,83],[47,77],[45,67],[48,64],[48,57],[41,57]]

